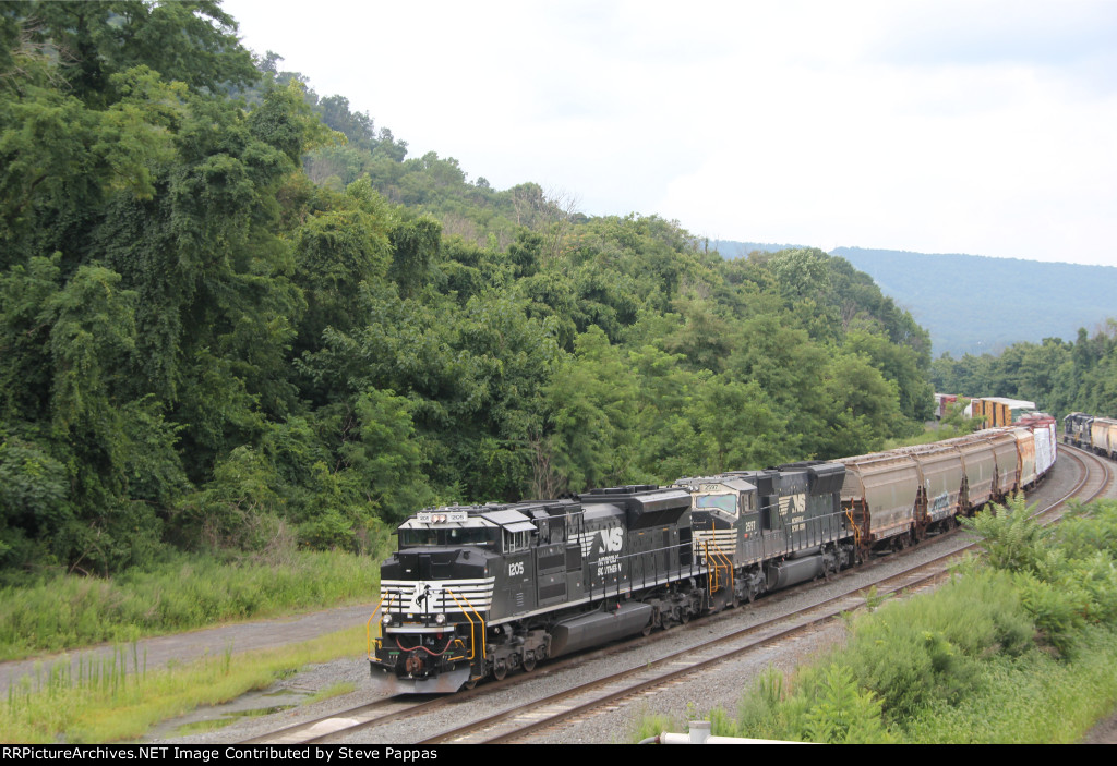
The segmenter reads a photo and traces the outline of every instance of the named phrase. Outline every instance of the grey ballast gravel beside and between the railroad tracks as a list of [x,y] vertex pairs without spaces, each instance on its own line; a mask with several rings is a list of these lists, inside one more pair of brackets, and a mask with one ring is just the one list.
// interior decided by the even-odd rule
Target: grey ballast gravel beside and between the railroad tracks
[[[1029,497],[1030,503],[1046,504],[1062,496],[1071,487],[1077,472],[1066,463],[1051,472],[1044,484]],[[1110,495],[1114,491],[1110,489]],[[932,540],[900,556],[885,556],[870,570],[859,569],[841,573],[832,582],[819,581],[806,588],[784,591],[774,597],[761,599],[756,603],[719,615],[661,633],[661,640],[624,648],[605,657],[566,667],[550,672],[546,663],[531,675],[521,675],[519,683],[500,691],[499,695],[476,697],[459,705],[449,705],[437,714],[417,716],[386,726],[355,733],[346,744],[413,744],[442,731],[456,728],[469,720],[491,715],[505,709],[526,709],[540,698],[564,688],[586,682],[621,668],[639,667],[675,651],[685,650],[714,636],[737,630],[777,614],[787,613],[815,603],[841,592],[868,584],[870,578],[890,574],[922,563],[946,552],[962,547],[968,542],[964,533],[947,540]],[[326,632],[326,631],[323,631]],[[792,672],[800,665],[810,661],[819,652],[841,644],[846,639],[846,627],[834,620],[813,630],[804,638],[782,640],[774,646],[748,652],[745,657],[727,661],[717,668],[696,672],[684,681],[656,690],[652,695],[622,701],[614,708],[596,714],[561,728],[540,733],[525,740],[533,744],[619,744],[631,743],[639,721],[645,716],[659,716],[675,721],[675,730],[686,731],[686,723],[707,718],[714,708],[735,712],[742,692],[770,667],[784,673]],[[214,652],[221,651],[220,642]],[[302,704],[290,709],[259,716],[244,716],[237,723],[222,728],[189,735],[171,734],[182,724],[206,717],[221,718],[236,710],[259,710],[295,704],[305,695],[326,689],[338,682],[349,681],[356,690],[314,704]],[[278,728],[311,720],[369,702],[375,699],[374,687],[369,678],[367,662],[363,657],[326,662],[306,668],[292,678],[275,685],[266,692],[241,698],[230,706],[199,710],[191,716],[171,721],[153,733],[149,741],[175,744],[236,743],[262,736]],[[1111,729],[1110,729],[1111,730]],[[1094,740],[1097,741],[1097,740]]]

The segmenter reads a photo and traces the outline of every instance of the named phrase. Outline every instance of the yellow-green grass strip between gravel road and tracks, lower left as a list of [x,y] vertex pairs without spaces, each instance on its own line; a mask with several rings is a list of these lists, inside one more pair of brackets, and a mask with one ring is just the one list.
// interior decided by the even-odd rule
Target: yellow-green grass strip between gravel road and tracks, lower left
[[68,662],[57,663],[10,687],[0,709],[0,741],[136,739],[162,720],[266,689],[305,665],[342,657],[360,661],[364,650],[364,626],[355,626],[297,646],[227,652],[162,670],[145,669],[134,644],[77,671]]

